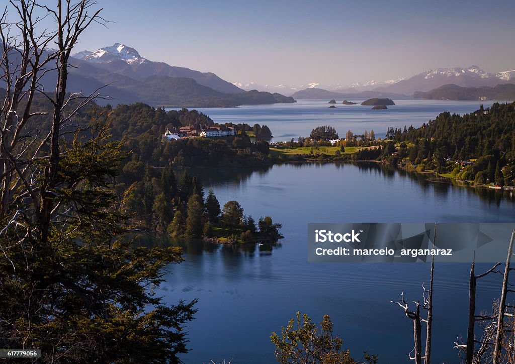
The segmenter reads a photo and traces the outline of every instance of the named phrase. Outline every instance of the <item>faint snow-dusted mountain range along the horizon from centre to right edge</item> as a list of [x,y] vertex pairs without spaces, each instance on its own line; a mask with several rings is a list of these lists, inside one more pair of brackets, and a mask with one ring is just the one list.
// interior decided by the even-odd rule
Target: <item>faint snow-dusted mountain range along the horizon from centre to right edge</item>
[[[446,84],[455,84],[462,87],[493,87],[497,84],[504,84],[513,82],[515,80],[515,70],[504,71],[496,74],[483,71],[478,66],[472,65],[470,67],[455,67],[455,68],[437,68],[435,70],[428,70],[418,75],[409,78],[399,78],[387,81],[369,81],[365,83],[354,83],[349,86],[340,84],[321,84],[312,82],[307,85],[279,85],[279,86],[260,86],[254,83],[242,84],[235,83],[240,88],[246,90],[248,86],[254,86],[257,90],[279,90],[285,95],[291,95],[296,98],[298,92],[308,89],[327,90],[337,92],[344,95],[355,95],[364,91],[376,91],[382,93],[398,94],[398,95],[413,95],[414,92],[426,92],[439,88]],[[301,94],[302,95],[302,94]],[[341,97],[341,96],[322,96],[327,97]],[[364,96],[367,97],[367,96]],[[370,96],[370,97],[375,97]],[[310,97],[311,98],[311,97]]]

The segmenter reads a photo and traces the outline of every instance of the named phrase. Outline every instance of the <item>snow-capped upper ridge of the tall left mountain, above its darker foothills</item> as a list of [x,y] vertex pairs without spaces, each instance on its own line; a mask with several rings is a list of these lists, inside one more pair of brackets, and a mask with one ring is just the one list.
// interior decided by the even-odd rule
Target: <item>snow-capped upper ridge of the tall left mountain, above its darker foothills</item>
[[136,49],[121,43],[115,43],[94,52],[84,50],[74,54],[73,57],[134,80],[143,80],[152,76],[185,77],[193,78],[198,84],[223,93],[243,92],[242,89],[222,80],[214,73],[174,67],[164,62],[153,62],[143,58]]

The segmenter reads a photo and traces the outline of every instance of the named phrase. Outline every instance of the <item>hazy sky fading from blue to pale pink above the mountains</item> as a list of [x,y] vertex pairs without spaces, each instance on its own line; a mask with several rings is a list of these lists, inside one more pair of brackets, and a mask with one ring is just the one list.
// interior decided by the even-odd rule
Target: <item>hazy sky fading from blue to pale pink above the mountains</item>
[[515,69],[511,0],[98,0],[108,28],[76,50],[116,42],[142,57],[231,82],[351,84],[430,68]]

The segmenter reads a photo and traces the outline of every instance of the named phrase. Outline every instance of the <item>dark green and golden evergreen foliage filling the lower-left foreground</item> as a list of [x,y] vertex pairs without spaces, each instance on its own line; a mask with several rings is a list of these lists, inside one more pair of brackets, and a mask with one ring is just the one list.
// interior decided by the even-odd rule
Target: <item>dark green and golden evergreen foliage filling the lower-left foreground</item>
[[48,238],[23,189],[2,220],[0,346],[38,348],[45,361],[178,362],[195,301],[167,305],[153,289],[181,249],[132,246],[127,196],[113,189],[126,153],[104,118],[61,143]]

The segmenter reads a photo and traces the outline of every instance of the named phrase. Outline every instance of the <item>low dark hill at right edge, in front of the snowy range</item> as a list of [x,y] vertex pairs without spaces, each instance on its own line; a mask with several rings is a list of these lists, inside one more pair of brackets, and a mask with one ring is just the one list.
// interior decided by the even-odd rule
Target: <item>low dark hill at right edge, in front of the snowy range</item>
[[435,90],[416,92],[413,97],[433,100],[515,100],[515,84],[499,84],[495,87],[447,84]]

